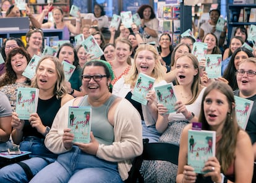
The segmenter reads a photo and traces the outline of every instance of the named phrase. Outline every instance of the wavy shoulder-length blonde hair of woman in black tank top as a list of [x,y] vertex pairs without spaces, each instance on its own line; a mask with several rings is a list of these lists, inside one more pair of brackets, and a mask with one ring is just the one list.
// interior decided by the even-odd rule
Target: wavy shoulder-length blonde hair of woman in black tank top
[[[54,57],[54,56],[44,56],[44,57],[42,57],[40,59],[40,61],[38,62],[37,66],[36,66],[36,72],[38,71],[38,68],[40,67],[41,62],[45,61],[46,59],[49,59],[49,60],[53,61],[54,65],[56,67],[55,72],[57,74],[57,81],[56,81],[55,86],[54,86],[53,94],[58,99],[62,98],[64,95],[67,94],[67,90],[65,88],[65,75],[64,75],[63,65],[61,64],[59,59],[57,57]],[[31,86],[34,87],[34,88],[38,88],[36,75],[32,80]]]

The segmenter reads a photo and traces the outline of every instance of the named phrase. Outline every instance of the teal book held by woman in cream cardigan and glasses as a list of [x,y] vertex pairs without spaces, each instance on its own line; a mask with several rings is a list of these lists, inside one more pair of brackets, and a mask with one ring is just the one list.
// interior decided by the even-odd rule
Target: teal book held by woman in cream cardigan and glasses
[[92,108],[90,106],[69,106],[68,127],[75,135],[73,142],[90,142],[91,115]]

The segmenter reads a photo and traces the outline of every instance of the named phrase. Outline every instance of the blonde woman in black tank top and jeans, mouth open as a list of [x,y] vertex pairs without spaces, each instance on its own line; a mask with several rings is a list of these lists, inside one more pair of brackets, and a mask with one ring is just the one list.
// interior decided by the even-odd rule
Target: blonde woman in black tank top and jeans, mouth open
[[39,61],[32,87],[39,88],[36,113],[24,121],[14,112],[11,122],[12,140],[20,150],[32,152],[30,159],[0,169],[0,182],[29,182],[40,169],[56,160],[56,155],[45,147],[45,136],[59,108],[73,98],[64,87],[64,71],[56,57],[46,56]]

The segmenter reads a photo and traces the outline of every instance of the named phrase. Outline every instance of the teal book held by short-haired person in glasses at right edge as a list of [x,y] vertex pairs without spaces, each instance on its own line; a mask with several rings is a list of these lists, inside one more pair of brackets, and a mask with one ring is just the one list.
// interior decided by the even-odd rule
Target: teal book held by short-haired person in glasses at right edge
[[236,102],[236,118],[238,125],[245,130],[254,101],[239,96],[234,96],[234,99]]

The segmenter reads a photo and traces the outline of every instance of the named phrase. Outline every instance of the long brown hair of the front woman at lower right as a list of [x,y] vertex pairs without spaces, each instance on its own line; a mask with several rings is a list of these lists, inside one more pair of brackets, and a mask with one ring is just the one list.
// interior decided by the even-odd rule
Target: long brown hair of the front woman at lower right
[[220,161],[221,172],[226,173],[234,160],[237,134],[240,128],[237,124],[236,109],[233,108],[235,100],[232,88],[223,82],[213,82],[205,89],[205,92],[203,93],[201,111],[198,117],[198,121],[202,122],[202,129],[211,130],[204,114],[204,103],[205,98],[212,90],[218,90],[220,93],[223,93],[223,95],[226,96],[230,109],[230,113],[228,113],[226,120],[224,121],[223,129],[221,131],[221,140],[216,146],[216,158]]

